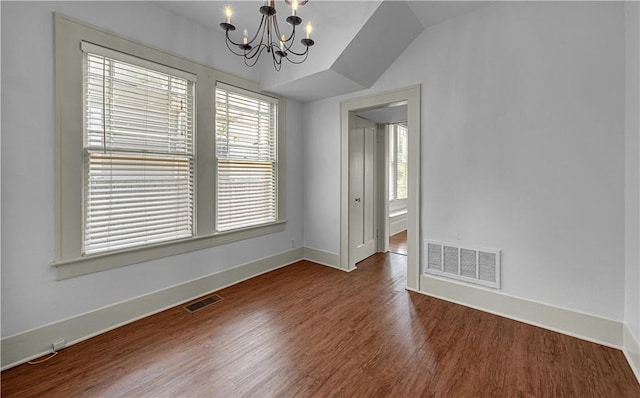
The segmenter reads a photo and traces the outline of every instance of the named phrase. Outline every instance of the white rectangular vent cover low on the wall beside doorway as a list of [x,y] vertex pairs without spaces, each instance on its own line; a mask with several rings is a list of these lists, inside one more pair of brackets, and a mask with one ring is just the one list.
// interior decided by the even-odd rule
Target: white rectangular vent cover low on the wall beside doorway
[[500,250],[425,241],[427,274],[500,289]]

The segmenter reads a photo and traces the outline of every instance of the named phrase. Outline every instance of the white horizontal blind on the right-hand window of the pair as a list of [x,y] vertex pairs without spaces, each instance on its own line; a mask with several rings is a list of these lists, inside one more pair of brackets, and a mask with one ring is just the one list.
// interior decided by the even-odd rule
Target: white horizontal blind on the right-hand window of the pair
[[216,229],[277,220],[277,100],[216,88]]

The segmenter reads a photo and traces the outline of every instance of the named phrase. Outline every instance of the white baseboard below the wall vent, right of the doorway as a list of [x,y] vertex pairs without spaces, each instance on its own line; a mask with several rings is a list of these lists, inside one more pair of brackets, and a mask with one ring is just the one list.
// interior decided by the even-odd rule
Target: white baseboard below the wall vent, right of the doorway
[[623,323],[620,321],[431,275],[420,276],[418,293],[608,347],[622,348]]

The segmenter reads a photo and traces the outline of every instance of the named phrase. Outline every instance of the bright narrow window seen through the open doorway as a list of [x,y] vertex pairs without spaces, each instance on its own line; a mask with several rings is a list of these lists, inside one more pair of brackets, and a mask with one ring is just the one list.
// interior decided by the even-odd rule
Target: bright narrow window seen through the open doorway
[[389,132],[389,201],[407,199],[407,168],[409,147],[407,127],[391,124]]

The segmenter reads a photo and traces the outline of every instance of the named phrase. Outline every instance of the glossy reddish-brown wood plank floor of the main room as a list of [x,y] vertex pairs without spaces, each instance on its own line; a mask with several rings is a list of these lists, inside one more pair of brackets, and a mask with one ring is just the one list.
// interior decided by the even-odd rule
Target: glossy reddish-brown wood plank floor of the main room
[[619,350],[306,261],[2,373],[2,396],[640,397]]

